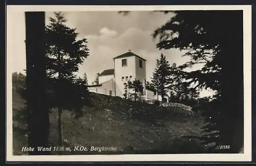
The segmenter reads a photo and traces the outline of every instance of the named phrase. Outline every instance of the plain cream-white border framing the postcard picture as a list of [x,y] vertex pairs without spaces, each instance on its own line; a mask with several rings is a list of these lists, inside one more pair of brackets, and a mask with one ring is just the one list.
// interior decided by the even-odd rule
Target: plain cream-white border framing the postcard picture
[[[122,154],[122,155],[42,155],[12,154],[12,70],[7,51],[7,161],[251,161],[251,5],[180,5],[180,6],[7,6],[7,31],[12,12],[25,11],[156,11],[156,10],[243,10],[244,33],[244,154]],[[7,47],[8,43],[7,36]]]

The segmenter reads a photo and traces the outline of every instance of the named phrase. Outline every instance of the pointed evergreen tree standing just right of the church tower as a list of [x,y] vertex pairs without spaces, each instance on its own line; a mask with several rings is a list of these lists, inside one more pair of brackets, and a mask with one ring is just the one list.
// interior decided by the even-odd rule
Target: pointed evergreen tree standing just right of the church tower
[[152,83],[157,90],[157,95],[162,98],[167,94],[167,86],[170,84],[170,64],[166,57],[161,53],[160,59],[157,59],[156,69],[153,72]]

